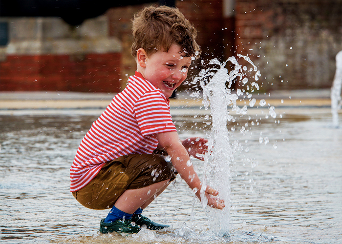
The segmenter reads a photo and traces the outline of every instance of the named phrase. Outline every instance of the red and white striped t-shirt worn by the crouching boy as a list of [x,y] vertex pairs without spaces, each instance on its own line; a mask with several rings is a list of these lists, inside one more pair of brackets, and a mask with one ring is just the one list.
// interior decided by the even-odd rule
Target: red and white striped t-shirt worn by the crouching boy
[[89,183],[102,166],[128,154],[151,154],[156,133],[176,131],[169,100],[135,72],[83,138],[70,168],[70,190]]

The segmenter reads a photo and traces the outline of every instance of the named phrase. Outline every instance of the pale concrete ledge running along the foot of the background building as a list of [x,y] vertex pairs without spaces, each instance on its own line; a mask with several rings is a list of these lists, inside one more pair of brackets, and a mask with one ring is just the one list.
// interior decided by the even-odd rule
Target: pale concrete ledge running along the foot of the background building
[[[274,95],[271,95],[274,94]],[[302,98],[299,98],[299,95]],[[330,107],[330,97],[326,90],[307,91],[275,91],[270,95],[254,95],[256,104],[253,108],[261,108],[261,99],[266,101],[265,107]],[[0,109],[92,109],[106,108],[115,93],[80,93],[80,92],[0,92]],[[248,105],[249,100],[237,101],[239,106]],[[190,97],[180,92],[177,99],[171,99],[172,108],[203,107],[202,99]]]

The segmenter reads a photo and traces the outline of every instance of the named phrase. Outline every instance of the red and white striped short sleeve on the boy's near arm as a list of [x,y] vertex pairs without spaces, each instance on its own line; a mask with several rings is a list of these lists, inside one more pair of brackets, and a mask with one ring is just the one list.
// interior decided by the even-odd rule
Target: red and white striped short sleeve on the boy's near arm
[[145,93],[134,104],[133,111],[143,136],[177,131],[172,122],[170,105],[159,91]]

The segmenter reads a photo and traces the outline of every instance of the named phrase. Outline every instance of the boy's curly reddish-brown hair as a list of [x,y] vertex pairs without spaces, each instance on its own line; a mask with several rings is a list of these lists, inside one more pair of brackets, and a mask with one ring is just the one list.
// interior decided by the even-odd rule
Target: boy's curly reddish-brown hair
[[173,43],[181,47],[186,57],[198,58],[200,55],[200,47],[195,41],[197,31],[177,8],[144,8],[134,15],[132,32],[133,57],[139,48],[143,48],[148,56],[161,47],[168,52]]

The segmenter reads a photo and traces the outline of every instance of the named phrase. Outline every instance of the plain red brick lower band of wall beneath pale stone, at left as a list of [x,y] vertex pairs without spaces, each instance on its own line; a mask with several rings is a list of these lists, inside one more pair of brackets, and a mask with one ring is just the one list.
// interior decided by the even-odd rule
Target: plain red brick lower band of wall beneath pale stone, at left
[[0,62],[0,91],[119,92],[121,54],[21,55]]

